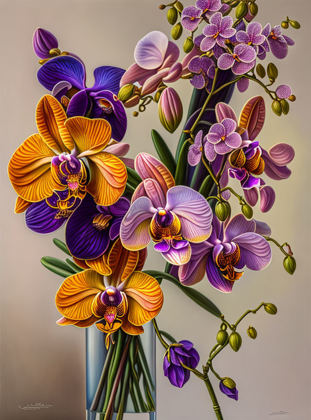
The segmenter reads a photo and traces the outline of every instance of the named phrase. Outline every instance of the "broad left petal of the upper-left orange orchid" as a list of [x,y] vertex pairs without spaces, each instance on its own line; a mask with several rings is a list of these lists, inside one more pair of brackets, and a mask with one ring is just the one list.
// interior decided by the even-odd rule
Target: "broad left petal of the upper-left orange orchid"
[[41,201],[54,189],[64,189],[52,177],[51,161],[55,154],[39,134],[26,139],[14,152],[8,175],[17,194],[26,201]]

